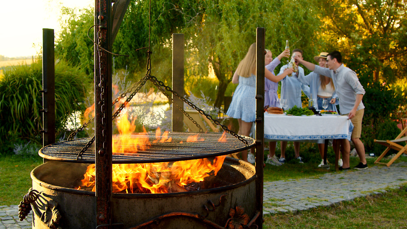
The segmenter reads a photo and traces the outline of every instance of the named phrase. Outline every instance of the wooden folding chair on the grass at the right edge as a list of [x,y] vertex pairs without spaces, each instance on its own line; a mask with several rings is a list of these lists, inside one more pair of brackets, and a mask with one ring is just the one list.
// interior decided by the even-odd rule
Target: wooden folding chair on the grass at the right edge
[[[382,144],[383,146],[387,146],[386,150],[384,150],[384,152],[380,155],[379,158],[377,158],[376,161],[374,161],[374,164],[384,164],[387,167],[390,166],[391,164],[393,164],[393,162],[400,157],[400,155],[402,153],[407,154],[407,144],[405,146],[402,146],[400,144],[400,142],[407,142],[407,136],[403,135],[407,132],[407,127],[405,127],[403,129],[403,131],[401,131],[401,133],[394,139],[394,140],[374,140],[374,142]],[[387,163],[383,163],[383,162],[379,162],[381,159],[383,159],[383,157],[387,154],[387,152],[389,152],[390,149],[394,149],[394,150],[398,150],[398,153]]]

